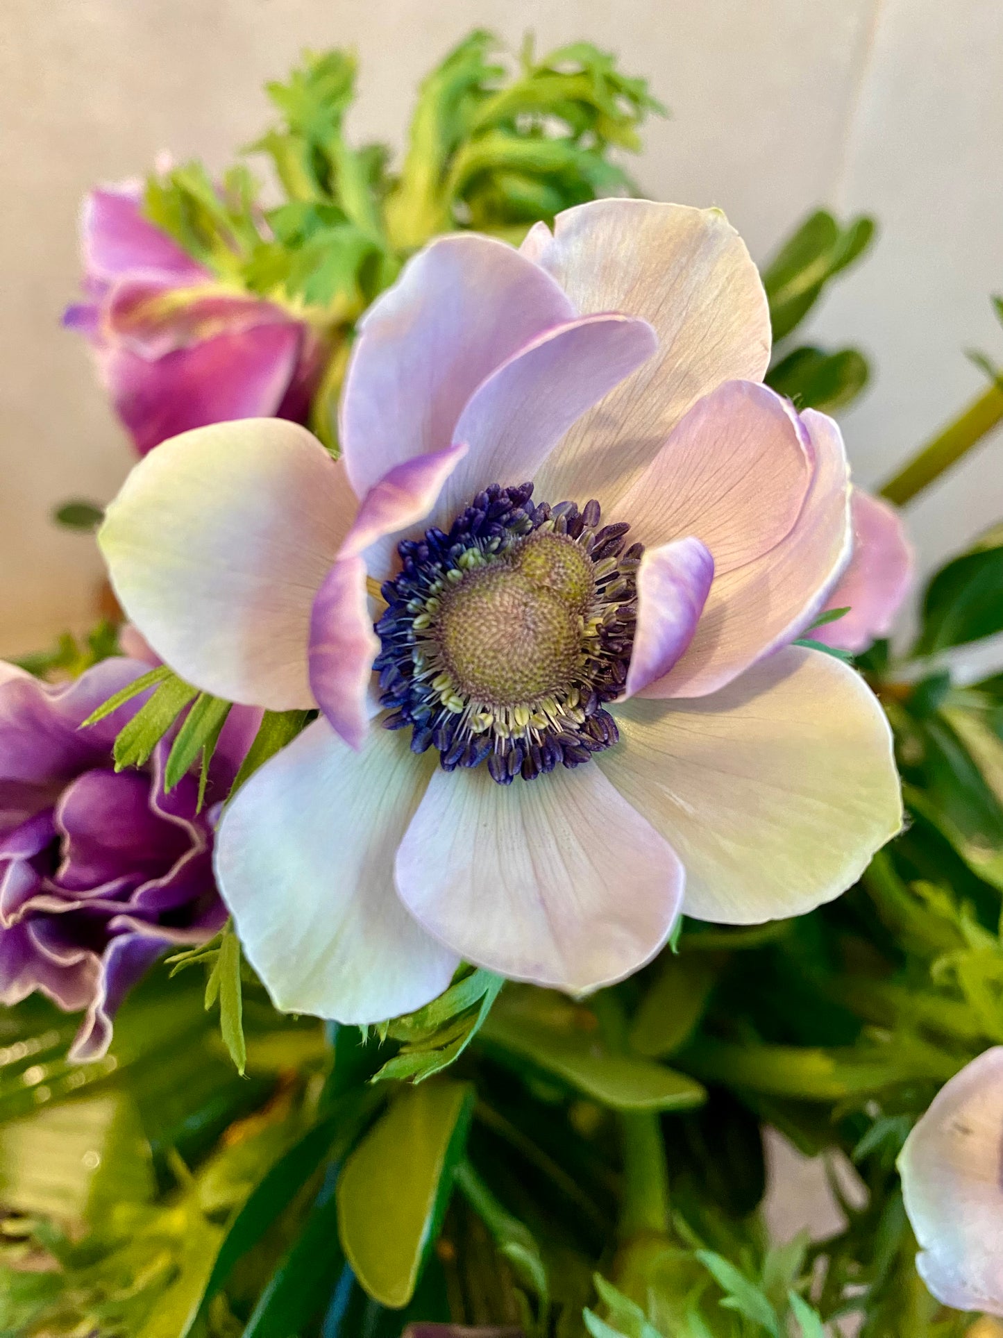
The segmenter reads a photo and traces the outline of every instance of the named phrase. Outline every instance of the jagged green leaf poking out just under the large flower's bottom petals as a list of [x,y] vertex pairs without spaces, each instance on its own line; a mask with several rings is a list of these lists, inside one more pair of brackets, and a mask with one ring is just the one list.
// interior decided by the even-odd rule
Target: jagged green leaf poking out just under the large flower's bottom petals
[[388,1036],[404,1044],[372,1081],[407,1078],[424,1082],[448,1068],[484,1025],[503,985],[500,975],[475,970],[417,1013],[396,1018],[388,1028]]

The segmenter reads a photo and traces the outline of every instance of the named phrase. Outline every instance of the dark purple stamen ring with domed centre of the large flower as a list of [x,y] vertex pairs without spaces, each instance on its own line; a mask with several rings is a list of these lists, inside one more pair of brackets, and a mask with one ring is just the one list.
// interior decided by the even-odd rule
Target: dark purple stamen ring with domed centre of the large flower
[[627,677],[643,551],[625,551],[629,524],[600,527],[595,500],[531,496],[492,484],[448,534],[401,542],[376,624],[384,725],[503,785],[617,743],[603,708]]

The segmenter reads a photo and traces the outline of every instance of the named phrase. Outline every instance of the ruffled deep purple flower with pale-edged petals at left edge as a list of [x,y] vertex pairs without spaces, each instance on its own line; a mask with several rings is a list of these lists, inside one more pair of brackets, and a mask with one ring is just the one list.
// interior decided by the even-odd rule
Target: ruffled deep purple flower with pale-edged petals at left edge
[[143,696],[80,728],[147,670],[104,660],[53,686],[0,662],[0,999],[41,990],[83,1010],[78,1060],[107,1050],[126,991],[167,947],[226,919],[213,828],[259,717],[230,712],[199,814],[194,776],[163,791],[166,743],[147,769],[114,769],[112,743]]

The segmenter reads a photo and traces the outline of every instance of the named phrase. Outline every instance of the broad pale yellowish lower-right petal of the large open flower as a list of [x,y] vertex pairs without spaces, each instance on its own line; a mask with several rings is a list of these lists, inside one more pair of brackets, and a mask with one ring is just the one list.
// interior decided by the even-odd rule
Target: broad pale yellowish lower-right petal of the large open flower
[[596,756],[686,866],[687,915],[801,915],[845,891],[901,827],[892,736],[860,674],[790,646],[709,697],[612,708]]

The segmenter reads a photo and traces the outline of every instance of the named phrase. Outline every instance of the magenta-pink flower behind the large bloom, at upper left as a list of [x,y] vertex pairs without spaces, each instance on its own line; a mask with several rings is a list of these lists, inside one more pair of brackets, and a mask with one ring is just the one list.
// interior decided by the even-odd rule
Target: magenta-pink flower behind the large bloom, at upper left
[[305,423],[324,369],[313,329],[223,286],[140,213],[132,186],[94,190],[82,213],[86,301],[63,322],[91,341],[140,455],[207,423]]

